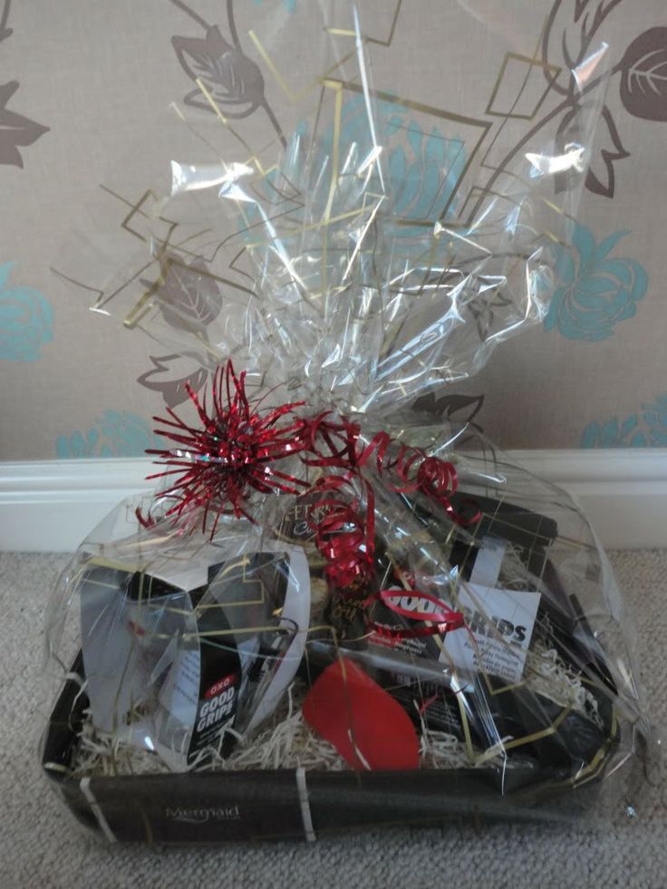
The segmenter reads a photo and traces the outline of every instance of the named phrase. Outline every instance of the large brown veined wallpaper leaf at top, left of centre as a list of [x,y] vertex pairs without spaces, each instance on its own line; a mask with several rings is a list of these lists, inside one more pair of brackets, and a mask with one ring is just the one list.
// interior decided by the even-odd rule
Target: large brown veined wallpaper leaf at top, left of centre
[[[238,40],[233,0],[227,0],[229,41],[217,24],[208,24],[182,0],[171,0],[171,3],[205,30],[203,37],[171,38],[180,66],[190,80],[203,83],[227,118],[245,118],[259,108],[266,111],[275,132],[286,146],[283,130],[266,101],[264,76],[259,66],[243,52]],[[193,108],[213,111],[206,95],[198,86],[183,101]]]

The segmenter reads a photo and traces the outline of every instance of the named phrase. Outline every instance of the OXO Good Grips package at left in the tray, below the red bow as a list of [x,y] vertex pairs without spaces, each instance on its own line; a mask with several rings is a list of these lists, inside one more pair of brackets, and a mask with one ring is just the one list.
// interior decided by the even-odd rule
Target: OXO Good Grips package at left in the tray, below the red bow
[[153,575],[91,556],[80,594],[95,729],[175,770],[227,753],[275,709],[301,660],[310,595],[297,547],[267,542],[223,560],[206,546]]

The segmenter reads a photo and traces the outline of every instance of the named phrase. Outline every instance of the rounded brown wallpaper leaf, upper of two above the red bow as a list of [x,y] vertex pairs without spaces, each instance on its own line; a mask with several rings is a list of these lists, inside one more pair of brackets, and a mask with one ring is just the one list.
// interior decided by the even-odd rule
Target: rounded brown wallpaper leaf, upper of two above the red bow
[[167,324],[177,330],[203,333],[220,314],[222,295],[218,282],[198,256],[189,265],[173,256],[160,264],[158,281],[140,278],[140,284],[155,293]]

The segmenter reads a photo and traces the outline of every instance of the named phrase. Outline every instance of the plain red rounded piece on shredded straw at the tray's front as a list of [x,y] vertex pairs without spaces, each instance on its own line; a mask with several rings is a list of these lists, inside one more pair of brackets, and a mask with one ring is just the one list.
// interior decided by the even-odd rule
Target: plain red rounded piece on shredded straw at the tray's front
[[420,744],[410,717],[353,661],[332,663],[305,696],[304,719],[352,767],[419,768]]

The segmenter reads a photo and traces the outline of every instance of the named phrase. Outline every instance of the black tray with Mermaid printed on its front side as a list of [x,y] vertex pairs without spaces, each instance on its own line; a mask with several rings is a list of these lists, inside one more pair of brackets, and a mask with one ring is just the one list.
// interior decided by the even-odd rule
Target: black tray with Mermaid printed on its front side
[[[73,672],[82,673],[81,654]],[[589,812],[599,783],[523,768],[355,772],[303,769],[75,778],[88,705],[70,679],[43,736],[42,765],[74,817],[109,842],[156,846],[314,840],[362,828],[562,821]],[[611,749],[611,741],[610,741]],[[511,772],[511,774],[509,774]],[[523,785],[523,786],[522,786]]]

